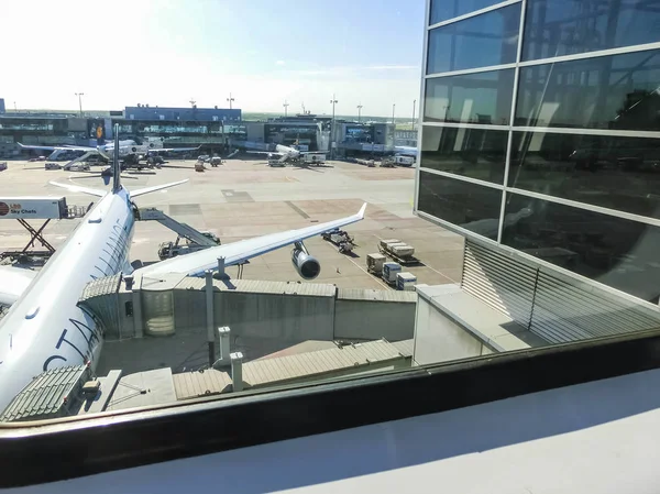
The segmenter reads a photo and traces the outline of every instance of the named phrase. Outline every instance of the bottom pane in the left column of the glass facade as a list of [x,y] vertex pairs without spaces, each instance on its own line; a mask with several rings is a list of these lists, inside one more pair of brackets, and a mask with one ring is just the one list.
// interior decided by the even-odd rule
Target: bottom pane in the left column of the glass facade
[[419,173],[418,209],[490,239],[497,239],[502,190],[427,172]]

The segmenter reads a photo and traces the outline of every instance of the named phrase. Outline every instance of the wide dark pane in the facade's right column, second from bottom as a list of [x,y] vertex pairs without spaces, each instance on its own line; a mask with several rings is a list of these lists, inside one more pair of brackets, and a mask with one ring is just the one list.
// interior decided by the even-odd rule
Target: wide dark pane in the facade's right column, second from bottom
[[660,218],[660,140],[515,132],[508,182]]

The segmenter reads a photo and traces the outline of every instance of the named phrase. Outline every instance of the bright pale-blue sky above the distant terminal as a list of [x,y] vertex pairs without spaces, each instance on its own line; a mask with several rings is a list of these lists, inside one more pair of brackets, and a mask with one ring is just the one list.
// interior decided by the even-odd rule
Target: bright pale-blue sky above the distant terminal
[[[8,108],[398,117],[419,99],[424,0],[22,0],[0,7]],[[8,45],[10,41],[10,45]],[[11,46],[11,47],[10,47]],[[7,50],[10,47],[9,50]],[[11,70],[9,70],[11,69]]]

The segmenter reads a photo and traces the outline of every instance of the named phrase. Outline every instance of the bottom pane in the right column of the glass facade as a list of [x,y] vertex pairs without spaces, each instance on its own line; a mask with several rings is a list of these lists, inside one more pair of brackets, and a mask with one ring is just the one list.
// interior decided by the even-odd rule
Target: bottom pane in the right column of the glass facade
[[660,229],[507,195],[502,242],[645,300],[660,295]]

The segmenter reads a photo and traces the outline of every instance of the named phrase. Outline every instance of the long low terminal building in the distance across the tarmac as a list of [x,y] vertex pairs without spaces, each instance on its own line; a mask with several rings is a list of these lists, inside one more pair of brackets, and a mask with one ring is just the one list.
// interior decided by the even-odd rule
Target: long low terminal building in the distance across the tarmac
[[[298,145],[301,151],[329,152],[336,157],[383,155],[394,152],[394,124],[352,122],[328,116],[299,114],[245,121],[240,109],[165,108],[140,105],[123,111],[18,112],[0,114],[0,158],[21,154],[29,145],[96,145],[97,129],[105,140],[160,136],[168,147],[201,146],[204,153],[229,149],[266,150],[267,144]],[[332,130],[334,129],[334,135]]]

